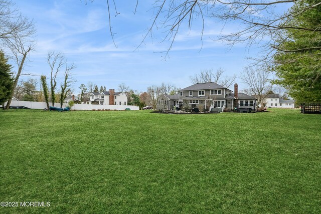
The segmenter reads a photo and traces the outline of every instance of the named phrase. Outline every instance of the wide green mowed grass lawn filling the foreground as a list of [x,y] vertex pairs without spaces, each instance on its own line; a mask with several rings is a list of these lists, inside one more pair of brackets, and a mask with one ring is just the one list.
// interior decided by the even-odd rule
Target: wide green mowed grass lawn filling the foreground
[[320,213],[321,115],[0,111],[0,212]]

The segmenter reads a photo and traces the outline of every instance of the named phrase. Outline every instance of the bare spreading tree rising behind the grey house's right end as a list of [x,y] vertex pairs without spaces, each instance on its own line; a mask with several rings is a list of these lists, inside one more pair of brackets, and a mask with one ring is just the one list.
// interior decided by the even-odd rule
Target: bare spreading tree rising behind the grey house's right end
[[253,67],[247,67],[243,70],[240,78],[250,89],[251,95],[257,98],[257,106],[259,106],[265,99],[266,92],[272,88],[269,73],[261,68],[255,70]]

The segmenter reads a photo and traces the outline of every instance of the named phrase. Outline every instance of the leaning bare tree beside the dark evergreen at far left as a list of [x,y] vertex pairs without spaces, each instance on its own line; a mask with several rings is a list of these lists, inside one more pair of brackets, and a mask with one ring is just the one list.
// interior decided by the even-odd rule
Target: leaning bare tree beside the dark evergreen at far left
[[35,42],[30,41],[26,38],[21,38],[19,36],[16,36],[14,38],[6,40],[5,45],[11,51],[12,59],[15,61],[16,65],[18,66],[18,71],[15,72],[14,87],[11,92],[11,98],[8,100],[7,106],[6,106],[6,109],[9,109],[11,100],[15,94],[15,90],[19,82],[20,76],[29,75],[29,74],[23,74],[23,69],[24,69],[25,62],[28,59],[29,53],[34,50]]

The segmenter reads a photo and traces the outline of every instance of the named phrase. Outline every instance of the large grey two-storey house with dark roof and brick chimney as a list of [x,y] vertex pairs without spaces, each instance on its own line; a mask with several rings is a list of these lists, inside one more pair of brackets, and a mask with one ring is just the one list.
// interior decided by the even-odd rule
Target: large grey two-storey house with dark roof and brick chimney
[[197,83],[178,91],[177,95],[162,95],[157,100],[157,109],[199,108],[200,110],[223,111],[224,109],[255,110],[256,99],[244,93],[238,93],[238,85],[232,90],[214,82]]

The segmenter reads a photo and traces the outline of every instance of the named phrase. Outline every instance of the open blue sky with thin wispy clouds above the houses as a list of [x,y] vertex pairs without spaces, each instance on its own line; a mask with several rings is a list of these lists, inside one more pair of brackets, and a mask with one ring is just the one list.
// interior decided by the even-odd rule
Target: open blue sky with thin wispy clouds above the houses
[[[117,48],[109,33],[106,1],[89,0],[87,5],[85,0],[15,2],[25,16],[34,20],[37,29],[36,50],[30,54],[31,62],[24,72],[49,75],[48,52],[61,52],[77,66],[73,70],[76,92],[89,81],[116,90],[120,83],[125,83],[141,92],[162,82],[185,88],[191,85],[190,76],[204,69],[223,68],[226,75],[239,75],[249,64],[246,57],[260,51],[255,46],[248,49],[245,44],[230,49],[223,42],[213,41],[219,34],[239,28],[239,24],[230,23],[222,32],[222,24],[213,19],[205,20],[203,44],[199,21],[195,20],[191,29],[187,24],[182,26],[166,60],[164,53],[158,53],[169,48],[169,42],[161,42],[166,36],[164,29],[154,31],[154,38],[148,37],[135,50],[152,23],[152,11],[148,11],[152,1],[140,1],[135,15],[136,1],[117,5],[120,14],[112,16]],[[240,79],[236,82],[240,89],[245,88]]]

